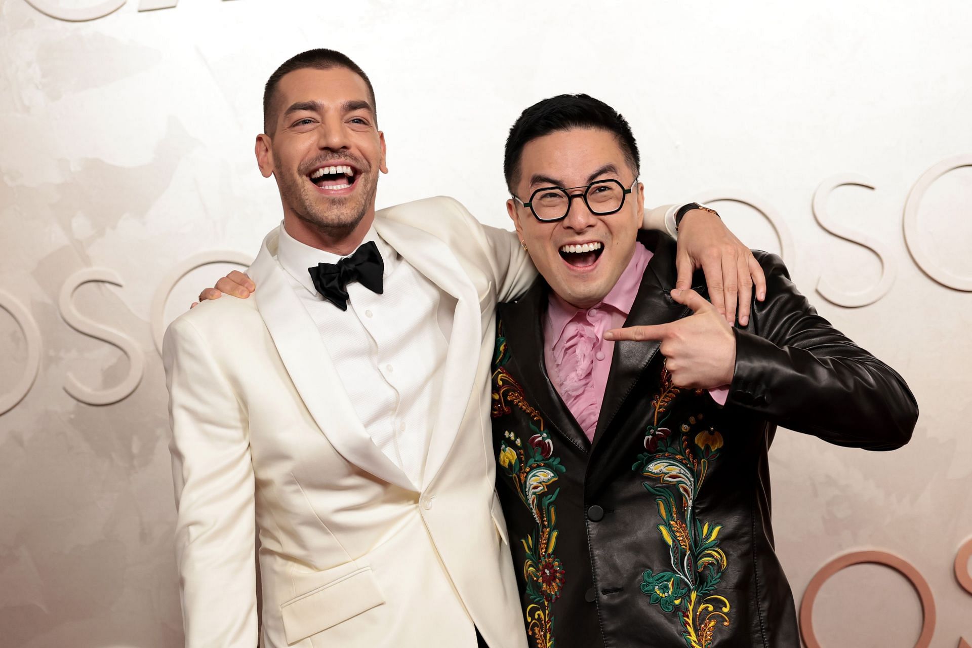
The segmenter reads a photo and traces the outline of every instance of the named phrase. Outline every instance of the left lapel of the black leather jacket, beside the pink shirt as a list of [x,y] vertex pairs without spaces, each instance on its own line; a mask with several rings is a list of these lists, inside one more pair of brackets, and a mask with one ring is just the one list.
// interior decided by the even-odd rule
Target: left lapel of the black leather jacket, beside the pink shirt
[[590,442],[577,425],[564,400],[547,377],[543,359],[542,320],[549,289],[542,277],[519,300],[501,305],[501,335],[508,336],[512,374],[521,381],[527,399],[543,414],[547,423],[566,436],[581,452]]

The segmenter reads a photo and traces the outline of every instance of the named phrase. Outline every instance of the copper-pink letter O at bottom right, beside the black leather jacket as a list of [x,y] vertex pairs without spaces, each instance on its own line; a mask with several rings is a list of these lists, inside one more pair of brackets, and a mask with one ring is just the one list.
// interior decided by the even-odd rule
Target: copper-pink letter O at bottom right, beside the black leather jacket
[[811,579],[807,591],[803,594],[800,602],[800,635],[807,648],[820,648],[820,642],[816,640],[814,632],[814,602],[820,588],[841,569],[845,569],[854,564],[883,564],[885,567],[894,569],[908,579],[921,600],[921,612],[923,621],[921,622],[921,633],[915,648],[928,648],[931,645],[931,635],[935,632],[935,597],[931,594],[928,581],[924,579],[914,564],[889,554],[885,551],[855,551],[850,554],[838,556],[834,560],[823,565]]

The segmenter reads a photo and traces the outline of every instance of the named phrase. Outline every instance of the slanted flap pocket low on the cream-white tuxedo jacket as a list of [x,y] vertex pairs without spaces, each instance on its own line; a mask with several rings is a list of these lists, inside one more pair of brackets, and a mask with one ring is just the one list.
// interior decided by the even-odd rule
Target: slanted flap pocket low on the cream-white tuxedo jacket
[[362,567],[281,604],[287,643],[326,631],[384,603],[371,567]]

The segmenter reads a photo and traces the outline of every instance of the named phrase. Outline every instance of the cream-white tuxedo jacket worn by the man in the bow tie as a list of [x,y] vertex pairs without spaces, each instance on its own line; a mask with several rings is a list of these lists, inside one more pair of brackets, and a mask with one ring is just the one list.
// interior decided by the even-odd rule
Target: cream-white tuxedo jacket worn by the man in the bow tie
[[526,646],[489,377],[496,303],[536,270],[515,235],[451,198],[382,210],[374,226],[454,299],[421,489],[357,418],[275,229],[249,271],[253,298],[204,302],[165,334],[187,646],[465,648],[473,623],[492,648]]

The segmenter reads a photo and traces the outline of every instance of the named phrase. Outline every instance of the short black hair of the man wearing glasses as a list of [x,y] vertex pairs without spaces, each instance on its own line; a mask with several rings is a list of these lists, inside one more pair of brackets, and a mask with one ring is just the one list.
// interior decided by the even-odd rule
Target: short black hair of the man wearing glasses
[[538,101],[523,111],[509,129],[503,157],[506,188],[512,192],[513,186],[519,182],[520,158],[523,156],[523,148],[529,142],[570,128],[600,128],[613,133],[624,152],[625,160],[636,174],[640,172],[638,143],[635,142],[627,119],[605,102],[587,94],[558,94]]

